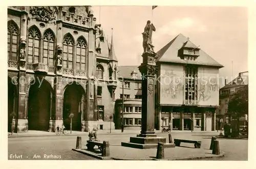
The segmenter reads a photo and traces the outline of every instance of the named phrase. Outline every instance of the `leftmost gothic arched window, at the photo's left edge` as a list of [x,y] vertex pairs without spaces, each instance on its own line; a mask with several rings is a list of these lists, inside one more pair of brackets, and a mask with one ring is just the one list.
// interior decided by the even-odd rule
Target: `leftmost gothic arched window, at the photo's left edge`
[[13,22],[8,22],[8,60],[17,61],[18,46],[18,26]]

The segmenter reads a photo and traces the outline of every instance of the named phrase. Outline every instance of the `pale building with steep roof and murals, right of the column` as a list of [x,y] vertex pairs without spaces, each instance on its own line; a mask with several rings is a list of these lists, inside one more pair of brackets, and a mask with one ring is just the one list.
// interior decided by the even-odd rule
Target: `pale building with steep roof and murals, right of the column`
[[[157,52],[157,128],[215,130],[223,66],[179,34]],[[163,123],[163,122],[162,122]]]

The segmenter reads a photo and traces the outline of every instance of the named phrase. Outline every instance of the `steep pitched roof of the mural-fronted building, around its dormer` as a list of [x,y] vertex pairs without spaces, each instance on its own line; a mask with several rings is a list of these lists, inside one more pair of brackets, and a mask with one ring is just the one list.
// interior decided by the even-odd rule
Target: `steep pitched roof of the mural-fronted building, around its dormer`
[[[187,43],[186,43],[187,42]],[[223,65],[219,64],[213,58],[211,58],[207,53],[200,49],[200,55],[196,61],[186,61],[179,57],[178,50],[184,45],[196,48],[197,46],[190,42],[184,35],[179,34],[167,45],[157,52],[156,62],[169,62],[169,63],[181,63],[181,64],[195,64],[195,65],[206,65],[206,66],[216,66],[222,68]]]

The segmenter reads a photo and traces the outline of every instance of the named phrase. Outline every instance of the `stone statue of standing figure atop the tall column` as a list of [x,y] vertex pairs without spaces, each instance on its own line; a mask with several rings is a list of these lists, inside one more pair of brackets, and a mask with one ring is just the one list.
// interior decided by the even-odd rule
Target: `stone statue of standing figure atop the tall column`
[[156,31],[156,27],[153,23],[151,23],[150,20],[146,22],[144,32],[142,33],[143,36],[143,49],[144,52],[151,52],[155,53],[154,51],[154,45],[152,44],[152,33],[153,31]]

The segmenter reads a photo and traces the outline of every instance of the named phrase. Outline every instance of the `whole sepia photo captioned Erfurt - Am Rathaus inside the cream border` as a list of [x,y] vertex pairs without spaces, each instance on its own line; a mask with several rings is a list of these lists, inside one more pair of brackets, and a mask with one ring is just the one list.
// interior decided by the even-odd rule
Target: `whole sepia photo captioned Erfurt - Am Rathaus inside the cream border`
[[248,161],[246,6],[7,13],[9,162]]

